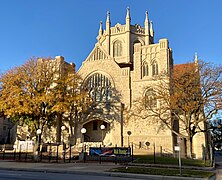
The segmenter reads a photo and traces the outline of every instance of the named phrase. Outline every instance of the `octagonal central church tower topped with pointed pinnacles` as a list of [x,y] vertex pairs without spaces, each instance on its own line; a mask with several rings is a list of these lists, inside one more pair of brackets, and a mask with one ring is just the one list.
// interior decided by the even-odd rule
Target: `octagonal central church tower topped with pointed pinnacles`
[[126,10],[125,24],[117,23],[111,26],[110,12],[107,12],[106,28],[102,31],[100,23],[99,34],[97,37],[98,43],[106,50],[118,64],[133,63],[134,44],[141,45],[153,44],[154,31],[152,22],[149,21],[148,12],[146,12],[144,27],[139,24],[131,24],[130,8]]

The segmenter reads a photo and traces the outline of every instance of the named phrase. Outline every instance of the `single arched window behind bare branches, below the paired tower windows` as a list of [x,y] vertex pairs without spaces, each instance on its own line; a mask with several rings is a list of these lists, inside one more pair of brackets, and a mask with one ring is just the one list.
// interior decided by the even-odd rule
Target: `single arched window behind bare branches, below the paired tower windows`
[[148,89],[145,92],[145,108],[152,109],[157,107],[157,98],[153,89]]

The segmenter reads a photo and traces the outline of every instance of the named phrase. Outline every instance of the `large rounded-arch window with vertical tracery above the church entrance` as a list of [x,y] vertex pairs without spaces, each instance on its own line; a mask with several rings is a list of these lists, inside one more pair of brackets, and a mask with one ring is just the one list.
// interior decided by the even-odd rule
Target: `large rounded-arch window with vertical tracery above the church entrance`
[[112,97],[112,84],[108,77],[95,73],[88,77],[84,87],[89,91],[90,97],[94,101],[106,102]]

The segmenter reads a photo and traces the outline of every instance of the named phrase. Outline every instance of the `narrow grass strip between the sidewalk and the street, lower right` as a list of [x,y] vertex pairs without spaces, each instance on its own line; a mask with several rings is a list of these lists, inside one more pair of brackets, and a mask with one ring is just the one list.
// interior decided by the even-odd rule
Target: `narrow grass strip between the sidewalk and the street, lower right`
[[[135,174],[180,176],[179,169],[169,169],[169,168],[120,167],[120,168],[114,168],[111,171],[112,172],[122,172],[122,173],[135,173]],[[206,177],[211,177],[214,174],[215,173],[213,173],[213,172],[182,169],[182,176],[183,177],[206,178]]]

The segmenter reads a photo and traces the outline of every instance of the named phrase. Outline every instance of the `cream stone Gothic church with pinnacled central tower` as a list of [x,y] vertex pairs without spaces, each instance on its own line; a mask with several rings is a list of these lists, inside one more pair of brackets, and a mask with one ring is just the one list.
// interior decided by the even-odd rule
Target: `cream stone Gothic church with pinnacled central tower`
[[[134,145],[135,149],[173,153],[177,144],[172,132],[160,129],[140,117],[127,118],[126,111],[133,109],[141,96],[152,95],[148,86],[157,83],[160,74],[170,75],[174,64],[168,39],[154,42],[154,29],[145,13],[144,25],[131,24],[127,9],[125,24],[111,26],[107,13],[105,29],[100,22],[97,43],[82,63],[78,74],[84,88],[90,91],[95,104],[80,124],[78,141],[102,142],[105,146]],[[159,103],[154,102],[154,106]],[[104,126],[101,126],[104,125]],[[84,136],[84,137],[83,137]],[[193,151],[202,157],[205,136],[194,137]]]

